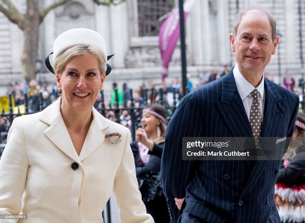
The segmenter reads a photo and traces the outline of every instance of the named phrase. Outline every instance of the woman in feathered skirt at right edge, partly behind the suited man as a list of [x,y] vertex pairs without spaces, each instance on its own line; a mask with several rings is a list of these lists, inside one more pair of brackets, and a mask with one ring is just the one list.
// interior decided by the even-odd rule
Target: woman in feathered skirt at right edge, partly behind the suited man
[[299,112],[275,185],[275,203],[282,222],[305,222],[305,113]]

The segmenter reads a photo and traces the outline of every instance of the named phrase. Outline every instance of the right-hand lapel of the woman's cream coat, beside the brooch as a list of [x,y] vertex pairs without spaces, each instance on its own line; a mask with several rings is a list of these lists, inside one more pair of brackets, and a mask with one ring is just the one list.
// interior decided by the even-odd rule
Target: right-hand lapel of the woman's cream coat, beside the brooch
[[86,159],[101,143],[105,140],[102,130],[109,127],[106,118],[95,109],[92,108],[93,120],[87,133],[84,145],[79,154],[79,159]]

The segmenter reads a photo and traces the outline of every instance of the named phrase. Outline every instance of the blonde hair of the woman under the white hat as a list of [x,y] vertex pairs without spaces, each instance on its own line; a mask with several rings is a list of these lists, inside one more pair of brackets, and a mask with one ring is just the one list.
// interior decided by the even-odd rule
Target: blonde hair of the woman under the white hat
[[99,70],[101,75],[106,73],[106,63],[102,51],[95,46],[77,45],[72,46],[63,51],[55,60],[54,72],[55,74],[62,74],[67,63],[74,56],[81,56],[84,54],[93,54],[99,62]]

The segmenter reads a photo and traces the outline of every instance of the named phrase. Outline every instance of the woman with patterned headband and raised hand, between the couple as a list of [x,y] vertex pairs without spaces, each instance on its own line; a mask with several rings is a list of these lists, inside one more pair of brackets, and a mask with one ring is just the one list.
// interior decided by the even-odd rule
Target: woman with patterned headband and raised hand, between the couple
[[161,155],[164,146],[167,111],[153,103],[143,110],[142,128],[136,131],[137,141],[131,144],[136,174],[147,213],[156,223],[170,222],[166,199],[160,184]]

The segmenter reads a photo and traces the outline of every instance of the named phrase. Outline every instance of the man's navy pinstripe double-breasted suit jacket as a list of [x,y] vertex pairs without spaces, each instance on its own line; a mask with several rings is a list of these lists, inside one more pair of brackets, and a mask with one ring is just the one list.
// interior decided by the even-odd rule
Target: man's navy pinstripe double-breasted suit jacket
[[[299,97],[267,78],[264,81],[261,136],[291,137]],[[167,126],[161,182],[170,215],[177,222],[174,197],[186,197],[183,211],[207,222],[280,222],[274,203],[280,160],[252,165],[249,161],[184,161],[182,137],[253,137],[233,68],[186,95]],[[284,146],[287,143],[282,144],[283,151]]]

